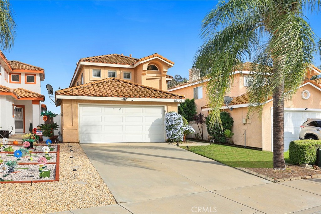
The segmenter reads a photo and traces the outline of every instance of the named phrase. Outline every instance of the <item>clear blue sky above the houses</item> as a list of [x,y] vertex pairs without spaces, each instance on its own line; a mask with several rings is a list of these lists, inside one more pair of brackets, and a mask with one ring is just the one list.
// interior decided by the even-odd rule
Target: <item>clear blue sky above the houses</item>
[[[201,21],[216,1],[11,1],[17,24],[9,60],[45,69],[41,92],[48,110],[46,85],[68,87],[76,62],[103,54],[158,53],[175,62],[169,75],[188,77],[197,48]],[[320,15],[308,21],[318,37]],[[321,64],[316,56],[315,65]]]

